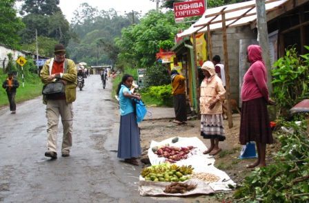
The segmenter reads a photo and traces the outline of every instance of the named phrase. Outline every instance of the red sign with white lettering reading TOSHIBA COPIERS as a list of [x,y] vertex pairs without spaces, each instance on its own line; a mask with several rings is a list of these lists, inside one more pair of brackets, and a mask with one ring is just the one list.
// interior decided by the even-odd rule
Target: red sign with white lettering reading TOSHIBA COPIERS
[[175,19],[201,16],[205,12],[205,0],[174,3]]

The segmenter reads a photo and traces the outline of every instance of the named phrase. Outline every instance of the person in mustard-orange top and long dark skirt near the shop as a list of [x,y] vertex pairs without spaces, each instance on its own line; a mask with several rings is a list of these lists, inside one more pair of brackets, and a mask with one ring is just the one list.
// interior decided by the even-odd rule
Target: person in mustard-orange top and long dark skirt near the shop
[[172,96],[174,97],[175,109],[175,120],[173,120],[173,122],[177,124],[186,124],[186,79],[175,69],[170,72],[170,77],[172,79]]

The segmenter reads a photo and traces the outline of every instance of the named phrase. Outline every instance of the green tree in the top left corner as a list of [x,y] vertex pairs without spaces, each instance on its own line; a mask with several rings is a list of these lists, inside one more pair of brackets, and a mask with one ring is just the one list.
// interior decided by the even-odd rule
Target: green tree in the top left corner
[[14,0],[0,1],[0,43],[14,49],[19,49],[20,37],[17,32],[25,27],[17,11],[14,10]]

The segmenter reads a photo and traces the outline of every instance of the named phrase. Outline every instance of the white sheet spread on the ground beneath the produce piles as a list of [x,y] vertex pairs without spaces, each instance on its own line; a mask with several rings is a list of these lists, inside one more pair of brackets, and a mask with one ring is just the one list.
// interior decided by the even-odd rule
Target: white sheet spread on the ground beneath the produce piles
[[[203,151],[207,150],[206,145],[199,140],[197,137],[193,138],[181,138],[179,137],[179,141],[176,143],[172,143],[172,138],[168,138],[161,142],[156,142],[154,140],[150,143],[150,148],[148,149],[148,157],[150,163],[152,165],[161,164],[165,161],[165,158],[159,158],[157,154],[152,151],[152,147],[161,147],[164,145],[170,145],[171,147],[188,147],[193,146],[196,147],[188,154],[188,158],[186,160],[179,160],[175,164],[177,166],[182,165],[191,165],[194,168],[194,172],[203,172],[203,173],[212,173],[214,175],[219,176],[220,180],[218,182],[212,182],[209,185],[214,191],[225,191],[230,190],[229,184],[235,186],[235,182],[233,182],[226,172],[217,169],[215,164],[215,158],[210,155],[203,154]],[[143,180],[143,179],[141,179]]]

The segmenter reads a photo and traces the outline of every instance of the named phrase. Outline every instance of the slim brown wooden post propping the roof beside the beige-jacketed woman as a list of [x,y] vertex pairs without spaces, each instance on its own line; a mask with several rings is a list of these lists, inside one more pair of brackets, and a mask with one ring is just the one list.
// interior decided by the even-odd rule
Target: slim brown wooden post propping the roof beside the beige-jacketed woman
[[226,99],[228,100],[228,127],[233,127],[232,110],[230,108],[230,71],[228,70],[228,40],[226,36],[226,14],[222,12],[222,35],[223,35],[223,54],[224,70],[226,73]]

